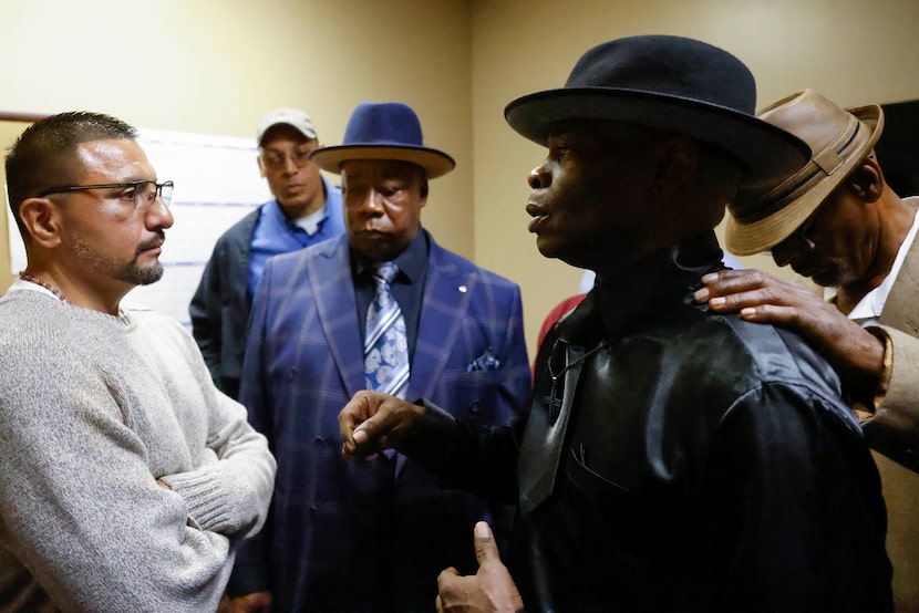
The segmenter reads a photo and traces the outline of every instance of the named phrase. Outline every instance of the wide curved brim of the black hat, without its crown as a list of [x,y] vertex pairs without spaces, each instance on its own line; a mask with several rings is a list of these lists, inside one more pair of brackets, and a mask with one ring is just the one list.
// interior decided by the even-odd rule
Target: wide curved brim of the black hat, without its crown
[[607,120],[698,138],[746,165],[744,185],[778,180],[810,159],[799,138],[752,115],[695,100],[613,87],[570,87],[528,94],[504,111],[523,136],[546,145],[549,131],[568,120]]

